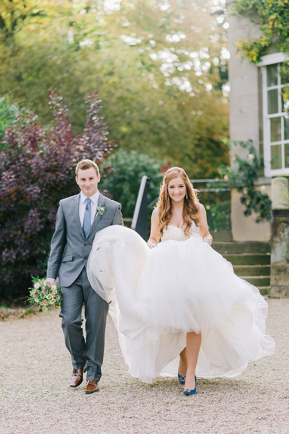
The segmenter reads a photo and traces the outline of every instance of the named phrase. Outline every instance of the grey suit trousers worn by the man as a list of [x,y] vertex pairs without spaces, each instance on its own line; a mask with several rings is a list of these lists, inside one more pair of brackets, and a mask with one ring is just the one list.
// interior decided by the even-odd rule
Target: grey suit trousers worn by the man
[[[65,345],[71,354],[72,365],[75,369],[83,368],[88,361],[86,379],[99,381],[104,357],[108,303],[91,288],[85,268],[70,286],[62,286],[62,290],[59,316],[62,318]],[[85,340],[81,328],[83,303]]]

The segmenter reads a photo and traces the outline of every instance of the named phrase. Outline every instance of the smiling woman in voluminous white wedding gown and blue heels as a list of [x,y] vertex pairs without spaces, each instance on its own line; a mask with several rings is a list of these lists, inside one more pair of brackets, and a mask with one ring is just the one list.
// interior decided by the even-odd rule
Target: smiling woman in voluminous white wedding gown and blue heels
[[130,375],[151,383],[177,373],[192,395],[196,375],[232,377],[273,354],[265,299],[234,274],[212,240],[205,207],[176,167],[164,175],[147,244],[121,226],[96,234],[88,279],[110,302]]

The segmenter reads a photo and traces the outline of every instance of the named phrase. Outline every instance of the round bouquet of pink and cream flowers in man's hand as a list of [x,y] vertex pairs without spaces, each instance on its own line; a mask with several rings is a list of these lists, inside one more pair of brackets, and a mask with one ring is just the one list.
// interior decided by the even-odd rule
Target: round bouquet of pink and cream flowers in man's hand
[[60,307],[61,294],[63,293],[61,287],[46,283],[45,277],[43,279],[39,279],[39,276],[31,277],[33,288],[28,288],[30,289],[29,304],[34,304],[38,307],[38,310],[42,309],[44,311]]

